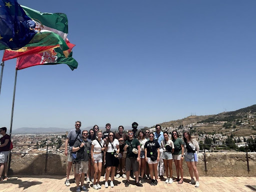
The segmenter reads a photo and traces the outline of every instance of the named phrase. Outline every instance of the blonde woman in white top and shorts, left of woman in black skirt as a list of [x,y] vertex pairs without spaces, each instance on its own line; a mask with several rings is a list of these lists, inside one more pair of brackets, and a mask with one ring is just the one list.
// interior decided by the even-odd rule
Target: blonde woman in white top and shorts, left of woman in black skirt
[[101,175],[102,168],[102,154],[104,152],[104,141],[101,139],[102,131],[97,131],[97,138],[94,139],[90,146],[91,161],[94,162],[94,175],[93,175],[93,186],[94,189],[101,188],[99,178]]

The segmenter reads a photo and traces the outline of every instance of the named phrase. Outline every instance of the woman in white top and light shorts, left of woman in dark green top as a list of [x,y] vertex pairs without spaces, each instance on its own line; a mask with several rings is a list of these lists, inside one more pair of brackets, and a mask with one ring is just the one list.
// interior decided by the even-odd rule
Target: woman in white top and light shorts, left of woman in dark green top
[[[171,139],[168,137],[168,132],[165,131],[163,132],[163,140],[161,141],[161,147],[163,149],[162,153],[162,159],[163,159],[163,164],[165,167],[165,172],[166,172],[166,183],[172,183],[172,153],[174,152],[174,144]],[[168,177],[168,169],[170,171],[170,176]]]

